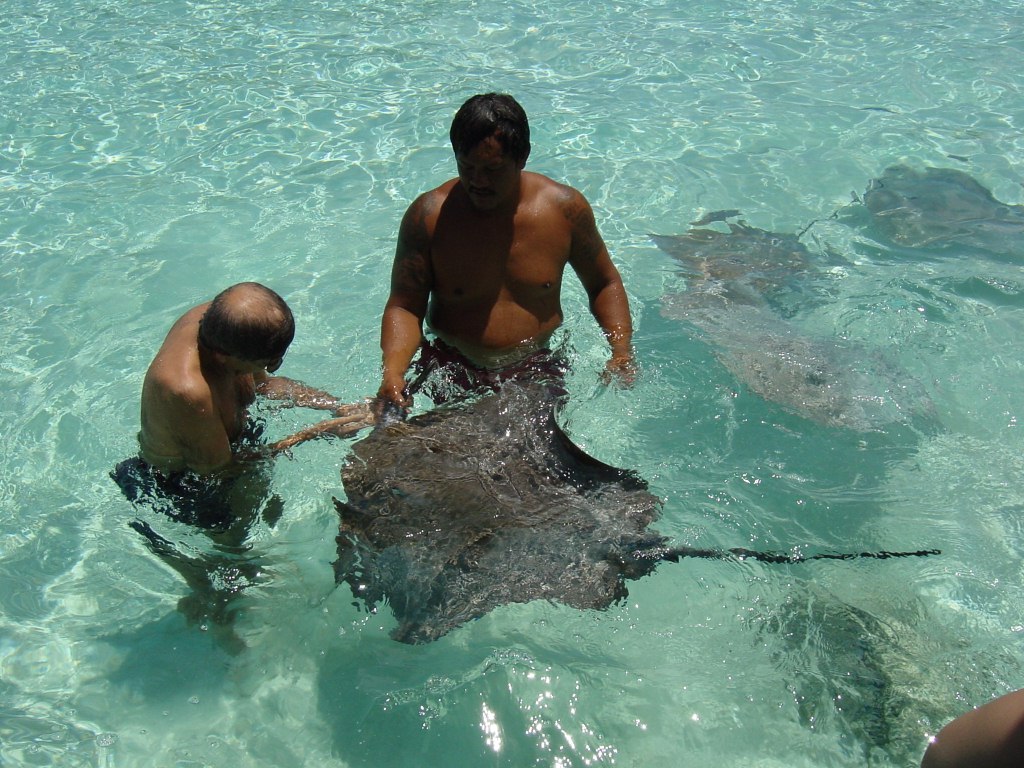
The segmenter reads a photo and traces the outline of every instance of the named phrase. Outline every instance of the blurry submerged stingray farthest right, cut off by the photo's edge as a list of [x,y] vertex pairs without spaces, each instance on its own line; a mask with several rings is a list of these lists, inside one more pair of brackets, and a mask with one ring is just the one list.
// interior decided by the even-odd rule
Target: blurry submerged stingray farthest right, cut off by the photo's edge
[[892,166],[871,179],[863,203],[877,232],[895,245],[1024,258],[1024,206],[996,200],[963,171]]

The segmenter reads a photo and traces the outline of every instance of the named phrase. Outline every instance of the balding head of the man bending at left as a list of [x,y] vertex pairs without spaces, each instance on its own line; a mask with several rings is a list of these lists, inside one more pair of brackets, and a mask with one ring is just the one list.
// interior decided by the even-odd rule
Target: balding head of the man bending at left
[[295,317],[276,293],[259,283],[221,291],[199,324],[199,342],[242,360],[284,357],[295,338]]

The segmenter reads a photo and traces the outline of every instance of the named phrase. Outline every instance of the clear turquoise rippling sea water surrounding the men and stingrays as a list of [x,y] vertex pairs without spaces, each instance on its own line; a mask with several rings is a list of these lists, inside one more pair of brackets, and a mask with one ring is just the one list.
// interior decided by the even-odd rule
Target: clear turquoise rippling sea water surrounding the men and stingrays
[[[949,718],[1024,686],[1024,248],[895,248],[851,205],[897,163],[1024,203],[1021,4],[3,8],[0,764],[912,766]],[[665,563],[606,611],[507,606],[406,646],[334,584],[350,442],[278,462],[280,518],[232,546],[123,498],[108,473],[135,451],[145,367],[231,283],[295,310],[283,374],[376,390],[398,218],[453,174],[451,117],[484,90],[524,104],[529,168],[584,191],[623,272],[640,380],[599,385],[569,276],[567,427],[649,481],[657,528],[941,556]],[[723,209],[816,222],[822,276],[780,322],[884,358],[870,372],[897,372],[923,418],[815,422],[723,356],[738,331],[666,310],[687,278],[649,233]],[[259,416],[271,436],[313,419]],[[230,622],[137,516],[218,563]]]

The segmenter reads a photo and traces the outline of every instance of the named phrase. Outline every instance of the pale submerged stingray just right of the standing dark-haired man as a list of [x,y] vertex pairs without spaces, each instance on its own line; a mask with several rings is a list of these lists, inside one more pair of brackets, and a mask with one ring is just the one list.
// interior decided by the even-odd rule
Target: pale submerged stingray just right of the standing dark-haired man
[[689,279],[663,298],[665,316],[689,323],[752,392],[820,424],[868,431],[927,412],[921,388],[878,352],[812,336],[776,307],[814,274],[796,236],[728,226],[651,236]]

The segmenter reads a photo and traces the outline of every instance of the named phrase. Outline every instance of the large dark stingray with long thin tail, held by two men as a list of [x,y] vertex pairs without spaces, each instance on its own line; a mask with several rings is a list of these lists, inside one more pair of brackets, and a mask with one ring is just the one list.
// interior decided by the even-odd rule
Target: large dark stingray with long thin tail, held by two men
[[934,554],[787,555],[670,546],[649,525],[660,504],[636,473],[587,456],[558,426],[557,398],[508,383],[355,443],[335,575],[370,608],[387,601],[391,636],[424,643],[495,607],[553,600],[605,608],[663,560],[799,563]]

